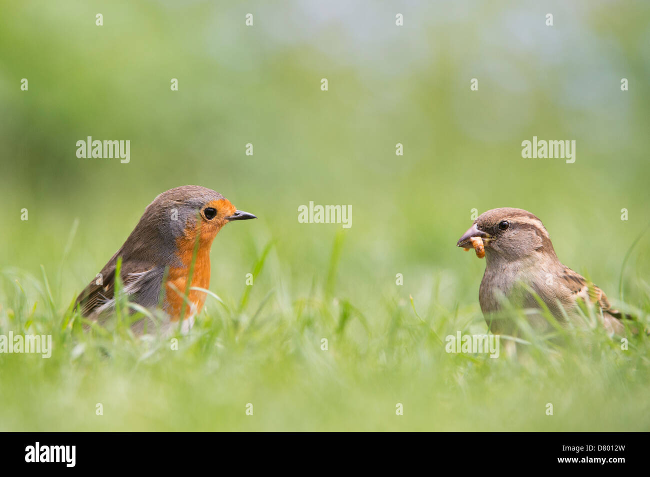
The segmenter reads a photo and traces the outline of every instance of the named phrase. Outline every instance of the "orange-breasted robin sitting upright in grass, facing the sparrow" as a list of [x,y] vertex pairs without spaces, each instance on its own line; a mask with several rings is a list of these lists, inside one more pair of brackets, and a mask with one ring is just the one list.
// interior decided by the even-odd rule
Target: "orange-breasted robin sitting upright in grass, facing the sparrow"
[[[121,257],[120,278],[127,299],[144,308],[160,304],[170,318],[168,324],[183,319],[181,329],[188,331],[206,295],[189,289],[190,275],[191,287],[207,289],[210,248],[217,232],[228,222],[256,218],[205,187],[165,191],[147,206],[124,245],[79,294],[75,308],[93,321],[109,317],[115,307],[115,271]],[[142,328],[144,319],[133,324],[135,332]]]

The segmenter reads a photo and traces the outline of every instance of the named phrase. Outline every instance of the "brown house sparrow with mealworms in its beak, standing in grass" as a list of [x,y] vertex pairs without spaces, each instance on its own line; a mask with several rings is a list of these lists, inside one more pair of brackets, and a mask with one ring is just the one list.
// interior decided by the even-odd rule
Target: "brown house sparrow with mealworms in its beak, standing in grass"
[[[480,245],[484,246],[486,256],[478,301],[493,333],[514,331],[515,323],[502,312],[503,298],[521,308],[541,308],[531,291],[543,300],[560,324],[566,323],[567,316],[578,319],[578,302],[583,300],[600,308],[601,321],[610,334],[625,330],[623,316],[612,310],[603,291],[558,260],[549,232],[535,215],[510,207],[488,210],[456,245],[474,247],[480,257],[482,251],[476,247],[476,238],[482,239]],[[534,329],[549,329],[541,313],[527,317]]]

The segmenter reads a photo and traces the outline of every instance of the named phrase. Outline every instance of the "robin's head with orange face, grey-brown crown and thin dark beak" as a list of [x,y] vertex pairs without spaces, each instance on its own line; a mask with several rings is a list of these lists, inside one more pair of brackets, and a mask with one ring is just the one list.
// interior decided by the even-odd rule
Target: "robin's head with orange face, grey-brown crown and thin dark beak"
[[[220,193],[201,186],[182,186],[164,191],[149,204],[140,222],[129,236],[129,249],[151,251],[158,244],[170,256],[182,243],[193,243],[200,234],[200,243],[210,245],[214,236],[228,222],[255,219],[255,215],[237,210]],[[127,245],[125,244],[125,245]],[[153,247],[156,248],[156,247]],[[153,257],[151,257],[153,258]]]

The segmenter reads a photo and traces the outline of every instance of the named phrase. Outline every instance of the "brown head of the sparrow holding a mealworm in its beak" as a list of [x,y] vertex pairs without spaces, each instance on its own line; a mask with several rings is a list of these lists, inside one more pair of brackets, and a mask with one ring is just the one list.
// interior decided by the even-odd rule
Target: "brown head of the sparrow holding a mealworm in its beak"
[[458,240],[458,247],[472,247],[471,238],[483,239],[487,260],[519,260],[538,253],[555,256],[549,232],[527,210],[502,207],[479,215]]

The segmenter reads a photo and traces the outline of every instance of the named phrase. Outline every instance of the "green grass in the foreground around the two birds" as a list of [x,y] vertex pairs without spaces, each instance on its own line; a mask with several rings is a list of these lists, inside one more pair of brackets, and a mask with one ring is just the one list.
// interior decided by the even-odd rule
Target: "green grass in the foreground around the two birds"
[[[271,247],[254,265],[256,279]],[[62,313],[66,303],[52,299],[45,273],[3,270],[10,293],[0,334],[51,334],[53,354],[0,354],[1,430],[649,429],[645,334],[622,350],[594,321],[562,332],[560,344],[528,336],[515,356],[503,339],[497,359],[448,354],[448,334],[486,331],[476,304],[432,300],[418,309],[395,293],[361,309],[336,291],[341,247],[339,235],[323,283],[305,295],[283,300],[255,285],[240,300],[212,294],[187,336],[133,336],[125,313],[106,330],[83,332],[70,307]],[[25,282],[40,290],[42,312]],[[647,310],[629,311],[647,325]]]

